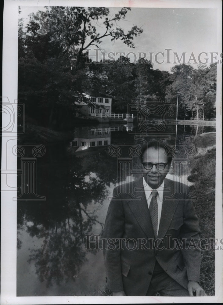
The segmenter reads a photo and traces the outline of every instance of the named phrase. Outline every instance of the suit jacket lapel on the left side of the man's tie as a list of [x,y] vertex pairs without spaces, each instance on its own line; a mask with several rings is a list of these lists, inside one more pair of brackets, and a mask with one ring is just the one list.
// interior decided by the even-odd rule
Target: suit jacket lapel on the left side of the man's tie
[[133,198],[135,198],[134,196],[140,196],[141,200],[137,199],[128,201],[128,205],[147,238],[154,238],[153,225],[146,201],[142,178],[133,182],[132,192],[133,194],[130,194],[130,196]]

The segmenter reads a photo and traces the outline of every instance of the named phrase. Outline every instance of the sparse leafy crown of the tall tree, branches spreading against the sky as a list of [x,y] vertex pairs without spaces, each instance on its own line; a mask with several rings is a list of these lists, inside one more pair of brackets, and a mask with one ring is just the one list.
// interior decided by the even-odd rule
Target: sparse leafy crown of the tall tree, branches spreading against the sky
[[[134,48],[133,38],[143,32],[133,26],[127,33],[117,25],[124,19],[130,8],[122,8],[109,18],[109,8],[106,7],[47,7],[45,12],[31,14],[27,29],[34,28],[36,32],[49,34],[51,41],[58,43],[64,53],[68,53],[75,61],[75,70],[80,67],[83,52],[91,46],[100,49],[102,39],[110,36],[111,41],[122,40],[130,48]],[[97,27],[99,20],[103,23]],[[39,24],[39,29],[37,28]]]

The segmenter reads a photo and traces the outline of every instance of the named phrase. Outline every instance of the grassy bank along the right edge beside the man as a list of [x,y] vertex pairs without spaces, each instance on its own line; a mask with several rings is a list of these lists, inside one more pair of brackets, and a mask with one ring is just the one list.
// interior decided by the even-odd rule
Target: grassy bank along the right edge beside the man
[[201,252],[200,284],[208,296],[214,296],[215,255],[210,239],[215,237],[215,148],[195,157],[191,165],[188,180],[194,184],[190,192],[197,197],[195,210],[200,223],[200,237],[207,239],[209,248]]

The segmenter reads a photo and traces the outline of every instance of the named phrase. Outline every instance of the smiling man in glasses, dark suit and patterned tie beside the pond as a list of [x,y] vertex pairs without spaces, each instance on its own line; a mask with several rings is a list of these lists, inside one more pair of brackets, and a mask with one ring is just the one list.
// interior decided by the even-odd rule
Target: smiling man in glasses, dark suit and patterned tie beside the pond
[[[165,145],[144,147],[143,177],[114,188],[103,236],[113,296],[206,295],[199,285],[198,218],[187,187],[165,178],[172,159]],[[187,191],[176,194],[176,189]]]

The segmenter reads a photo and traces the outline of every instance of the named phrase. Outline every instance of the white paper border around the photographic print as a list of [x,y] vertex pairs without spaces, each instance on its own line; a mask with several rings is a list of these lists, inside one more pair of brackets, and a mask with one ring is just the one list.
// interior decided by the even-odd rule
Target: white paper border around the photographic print
[[[216,8],[218,9],[218,50],[221,53],[221,1],[4,1],[3,20],[3,91],[12,103],[17,99],[17,60],[18,60],[18,5],[22,6],[106,6],[106,7],[162,7],[162,8]],[[222,120],[221,120],[221,66],[217,65],[217,127],[216,127],[216,238],[222,238]],[[15,107],[16,108],[16,107]],[[4,117],[3,117],[4,119]],[[16,120],[16,119],[15,119]],[[4,126],[4,121],[2,122]],[[215,261],[215,296],[209,297],[103,297],[103,296],[55,296],[55,297],[16,297],[16,191],[10,186],[16,186],[16,156],[7,155],[6,144],[12,139],[16,144],[16,126],[12,132],[2,136],[2,226],[1,226],[1,304],[105,304],[105,303],[220,303],[223,300],[222,291],[222,251],[216,250]],[[7,165],[7,160],[10,163]],[[5,180],[4,170],[12,170]]]

